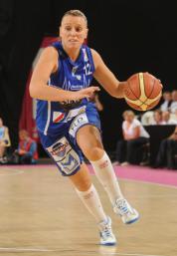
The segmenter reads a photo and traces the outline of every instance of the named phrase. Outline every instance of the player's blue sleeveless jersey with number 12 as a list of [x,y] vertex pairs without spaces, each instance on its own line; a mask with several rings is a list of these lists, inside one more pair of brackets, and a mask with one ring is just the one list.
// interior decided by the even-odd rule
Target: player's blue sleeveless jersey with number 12
[[[83,45],[77,61],[73,62],[65,52],[62,43],[56,42],[52,46],[59,53],[59,63],[58,70],[51,75],[48,85],[67,91],[88,88],[94,72],[89,47]],[[88,99],[64,103],[38,100],[37,127],[45,135],[57,134],[61,128],[68,128],[70,120],[85,111],[87,105]]]

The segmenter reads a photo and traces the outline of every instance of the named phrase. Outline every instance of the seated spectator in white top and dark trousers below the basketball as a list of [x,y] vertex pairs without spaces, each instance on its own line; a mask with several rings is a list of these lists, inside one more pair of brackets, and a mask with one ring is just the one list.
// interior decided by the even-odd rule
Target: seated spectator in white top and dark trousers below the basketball
[[123,119],[123,139],[117,142],[115,163],[121,163],[121,165],[138,164],[141,161],[139,148],[149,141],[149,134],[135,119],[132,111],[125,111]]

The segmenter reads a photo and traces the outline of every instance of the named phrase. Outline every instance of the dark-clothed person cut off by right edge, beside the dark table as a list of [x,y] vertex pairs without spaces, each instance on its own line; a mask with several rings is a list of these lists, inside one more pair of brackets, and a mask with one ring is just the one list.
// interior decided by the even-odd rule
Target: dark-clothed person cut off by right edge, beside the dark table
[[177,127],[174,132],[160,143],[159,151],[156,157],[154,168],[167,167],[177,169]]

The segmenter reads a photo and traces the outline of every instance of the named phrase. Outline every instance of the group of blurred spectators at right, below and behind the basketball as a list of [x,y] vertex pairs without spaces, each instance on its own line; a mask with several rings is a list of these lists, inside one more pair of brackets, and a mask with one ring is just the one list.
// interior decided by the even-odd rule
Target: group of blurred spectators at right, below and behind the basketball
[[158,145],[152,167],[177,169],[177,90],[164,92],[159,109],[135,116],[132,111],[122,115],[122,139],[115,149],[114,164],[150,165],[150,134],[147,126],[174,126],[173,132]]

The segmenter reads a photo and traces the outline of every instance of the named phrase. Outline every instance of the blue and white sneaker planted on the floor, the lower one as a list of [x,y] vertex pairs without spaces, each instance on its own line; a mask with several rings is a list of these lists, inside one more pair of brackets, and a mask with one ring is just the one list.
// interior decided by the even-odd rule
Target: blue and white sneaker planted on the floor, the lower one
[[107,216],[106,221],[98,223],[100,234],[100,245],[112,246],[116,244],[116,238],[111,230],[111,219]]

